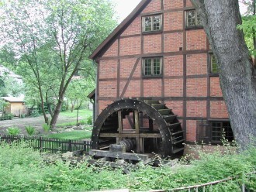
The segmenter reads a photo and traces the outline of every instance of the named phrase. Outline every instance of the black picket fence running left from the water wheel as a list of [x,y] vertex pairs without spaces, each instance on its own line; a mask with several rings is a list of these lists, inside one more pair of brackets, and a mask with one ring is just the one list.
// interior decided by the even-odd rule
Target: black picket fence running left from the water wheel
[[48,153],[67,153],[72,151],[89,151],[92,149],[91,140],[53,139],[42,136],[29,135],[0,135],[0,142],[28,142],[33,149]]

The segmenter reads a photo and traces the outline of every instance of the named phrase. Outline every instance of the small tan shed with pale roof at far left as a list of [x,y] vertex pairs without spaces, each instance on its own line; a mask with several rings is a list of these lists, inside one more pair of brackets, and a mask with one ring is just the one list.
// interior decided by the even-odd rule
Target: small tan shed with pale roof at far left
[[7,113],[12,113],[13,115],[19,116],[22,114],[27,114],[27,109],[23,98],[16,97],[1,97],[9,105],[5,108]]

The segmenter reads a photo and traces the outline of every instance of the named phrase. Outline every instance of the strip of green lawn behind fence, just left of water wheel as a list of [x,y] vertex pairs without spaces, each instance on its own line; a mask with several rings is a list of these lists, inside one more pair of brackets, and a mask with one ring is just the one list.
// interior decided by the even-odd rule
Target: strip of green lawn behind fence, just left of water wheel
[[92,132],[76,130],[76,131],[72,131],[72,132],[56,133],[56,134],[49,135],[48,137],[55,138],[55,139],[79,140],[79,139],[90,139],[91,136],[92,136]]

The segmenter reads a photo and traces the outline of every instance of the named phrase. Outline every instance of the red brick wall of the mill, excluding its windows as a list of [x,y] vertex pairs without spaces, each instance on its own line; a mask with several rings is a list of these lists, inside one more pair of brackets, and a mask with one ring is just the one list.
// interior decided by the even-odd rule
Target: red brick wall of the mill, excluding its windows
[[[228,118],[227,108],[224,101],[216,101],[216,98],[220,100],[222,97],[219,77],[207,76],[209,46],[203,29],[177,32],[183,29],[184,1],[164,0],[163,2],[163,32],[141,33],[141,17],[146,15],[145,13],[161,12],[161,0],[152,0],[123,33],[119,34],[120,37],[117,37],[120,43],[119,56],[116,39],[102,58],[99,58],[99,111],[118,99],[118,92],[119,95],[123,93],[134,64],[137,58],[140,58],[123,97],[156,97],[159,100],[163,96],[166,97],[164,103],[181,118],[180,122],[183,124],[186,122],[187,141],[193,142],[196,139],[197,120],[186,120],[184,115],[189,119]],[[192,7],[189,0],[186,1],[186,7]],[[162,39],[164,42],[161,42]],[[185,45],[183,45],[184,40],[186,40]],[[142,77],[143,58],[158,56],[163,56],[163,77],[151,79]],[[184,65],[187,66],[186,69],[183,69]],[[184,74],[189,77],[183,77]],[[183,89],[184,82],[186,82],[186,95]],[[209,88],[207,84],[210,84]],[[210,92],[207,93],[207,90]],[[213,100],[207,99],[208,94],[214,97]],[[200,101],[196,101],[197,98]],[[210,105],[209,117],[207,117],[207,102]],[[186,106],[185,111],[184,106]]]

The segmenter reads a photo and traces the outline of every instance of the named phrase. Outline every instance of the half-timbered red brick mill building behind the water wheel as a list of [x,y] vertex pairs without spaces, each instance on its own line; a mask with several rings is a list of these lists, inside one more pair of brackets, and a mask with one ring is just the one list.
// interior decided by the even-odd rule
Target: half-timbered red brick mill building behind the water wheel
[[[185,141],[218,143],[223,129],[233,139],[218,66],[189,0],[142,0],[91,59],[96,115],[121,98],[159,101],[177,115]],[[129,116],[123,129],[133,125]]]

